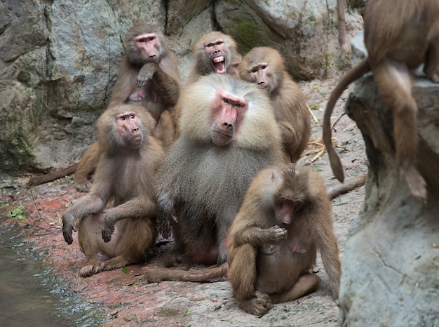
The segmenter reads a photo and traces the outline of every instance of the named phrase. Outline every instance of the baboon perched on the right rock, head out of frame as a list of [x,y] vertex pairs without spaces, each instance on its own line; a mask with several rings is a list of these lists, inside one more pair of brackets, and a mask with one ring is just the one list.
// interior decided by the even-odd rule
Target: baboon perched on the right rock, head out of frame
[[379,94],[393,112],[393,138],[400,175],[414,198],[426,201],[426,182],[415,168],[417,105],[410,71],[424,63],[428,78],[439,81],[439,1],[370,0],[365,8],[368,56],[345,74],[327,102],[323,141],[335,177],[344,180],[342,163],[331,143],[330,116],[337,99],[353,81],[372,71]]

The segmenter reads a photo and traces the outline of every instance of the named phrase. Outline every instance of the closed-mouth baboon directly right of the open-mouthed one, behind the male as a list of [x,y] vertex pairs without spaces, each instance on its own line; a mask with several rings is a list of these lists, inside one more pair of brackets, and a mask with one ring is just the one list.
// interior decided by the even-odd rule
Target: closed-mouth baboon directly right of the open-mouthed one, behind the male
[[252,48],[239,70],[241,79],[257,84],[269,94],[281,127],[284,152],[290,161],[297,161],[311,135],[311,115],[306,96],[286,71],[283,57],[273,48]]

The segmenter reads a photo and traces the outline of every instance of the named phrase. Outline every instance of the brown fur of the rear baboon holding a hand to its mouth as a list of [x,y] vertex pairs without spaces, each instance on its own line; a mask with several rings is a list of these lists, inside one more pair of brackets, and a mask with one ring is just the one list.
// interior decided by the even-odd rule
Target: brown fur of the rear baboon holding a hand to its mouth
[[[146,58],[137,49],[135,42],[137,36],[149,33],[155,33],[158,41],[158,53],[154,60]],[[131,27],[125,35],[124,45],[126,55],[119,65],[119,76],[113,87],[109,107],[122,104],[142,105],[157,121],[154,137],[161,140],[164,147],[168,147],[175,134],[175,123],[168,111],[177,103],[181,89],[177,55],[168,48],[160,29],[149,24]],[[142,100],[130,100],[133,99],[133,94],[140,91],[144,93]],[[88,192],[90,189],[88,175],[94,171],[100,154],[102,151],[94,143],[81,157],[74,176],[79,191]]]

